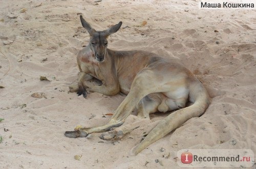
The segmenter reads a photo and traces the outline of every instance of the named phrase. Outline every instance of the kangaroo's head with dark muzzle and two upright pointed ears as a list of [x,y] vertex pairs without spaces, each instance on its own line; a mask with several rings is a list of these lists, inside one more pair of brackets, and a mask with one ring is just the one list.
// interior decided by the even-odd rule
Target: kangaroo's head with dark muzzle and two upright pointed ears
[[106,40],[106,38],[108,38],[108,36],[110,36],[111,34],[117,32],[120,29],[122,22],[119,22],[118,24],[110,27],[107,30],[96,31],[86,20],[82,18],[82,15],[80,15],[80,20],[82,26],[90,34],[89,47],[94,53],[94,59],[98,62],[103,62],[106,57],[106,48],[108,47],[108,40]]

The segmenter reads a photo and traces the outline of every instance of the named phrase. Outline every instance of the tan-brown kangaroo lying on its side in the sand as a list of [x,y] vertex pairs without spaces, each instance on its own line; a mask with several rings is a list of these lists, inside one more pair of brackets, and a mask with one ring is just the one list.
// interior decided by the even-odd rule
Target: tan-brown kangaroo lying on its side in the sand
[[[84,97],[87,91],[104,95],[121,92],[127,96],[107,124],[90,128],[80,126],[74,131],[66,131],[67,137],[86,137],[89,133],[105,132],[100,138],[120,138],[132,130],[118,128],[136,106],[137,116],[141,118],[150,118],[149,114],[154,112],[176,110],[161,120],[132,149],[136,155],[188,119],[205,112],[210,104],[207,91],[184,66],[147,51],[108,49],[107,38],[120,29],[122,22],[104,31],[96,31],[82,16],[80,20],[90,34],[90,42],[78,52],[78,85],[70,87],[71,91]],[[187,102],[193,104],[186,107]]]

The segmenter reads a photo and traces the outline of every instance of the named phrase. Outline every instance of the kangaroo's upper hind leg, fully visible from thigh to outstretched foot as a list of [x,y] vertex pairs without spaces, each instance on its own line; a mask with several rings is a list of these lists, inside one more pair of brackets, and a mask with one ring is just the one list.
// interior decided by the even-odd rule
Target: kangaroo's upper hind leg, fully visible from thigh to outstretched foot
[[107,124],[90,128],[78,128],[75,131],[65,132],[65,135],[67,137],[84,137],[89,133],[106,132],[115,127],[121,126],[125,119],[131,114],[136,105],[139,104],[140,100],[146,95],[154,93],[157,89],[157,86],[159,85],[159,82],[153,82],[150,78],[145,78],[144,76],[152,76],[154,79],[157,75],[152,75],[152,71],[150,69],[144,69],[139,74],[137,74],[132,83],[129,94],[115,110],[114,115]]

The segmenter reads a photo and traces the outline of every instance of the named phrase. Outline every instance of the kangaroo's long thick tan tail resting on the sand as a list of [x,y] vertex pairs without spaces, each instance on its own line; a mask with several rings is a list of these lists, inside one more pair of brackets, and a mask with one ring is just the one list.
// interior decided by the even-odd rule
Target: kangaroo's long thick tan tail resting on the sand
[[147,146],[181,126],[188,119],[199,117],[204,113],[209,106],[210,100],[202,83],[196,78],[193,79],[193,82],[191,82],[189,86],[189,101],[194,104],[179,109],[160,121],[159,124],[147,134],[144,140],[132,149],[132,154],[138,154]]

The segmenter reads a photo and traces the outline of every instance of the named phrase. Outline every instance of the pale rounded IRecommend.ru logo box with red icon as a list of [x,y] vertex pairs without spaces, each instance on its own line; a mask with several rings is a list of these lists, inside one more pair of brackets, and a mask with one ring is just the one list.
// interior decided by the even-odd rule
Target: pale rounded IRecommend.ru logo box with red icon
[[183,149],[177,155],[182,167],[250,167],[254,163],[249,149]]

